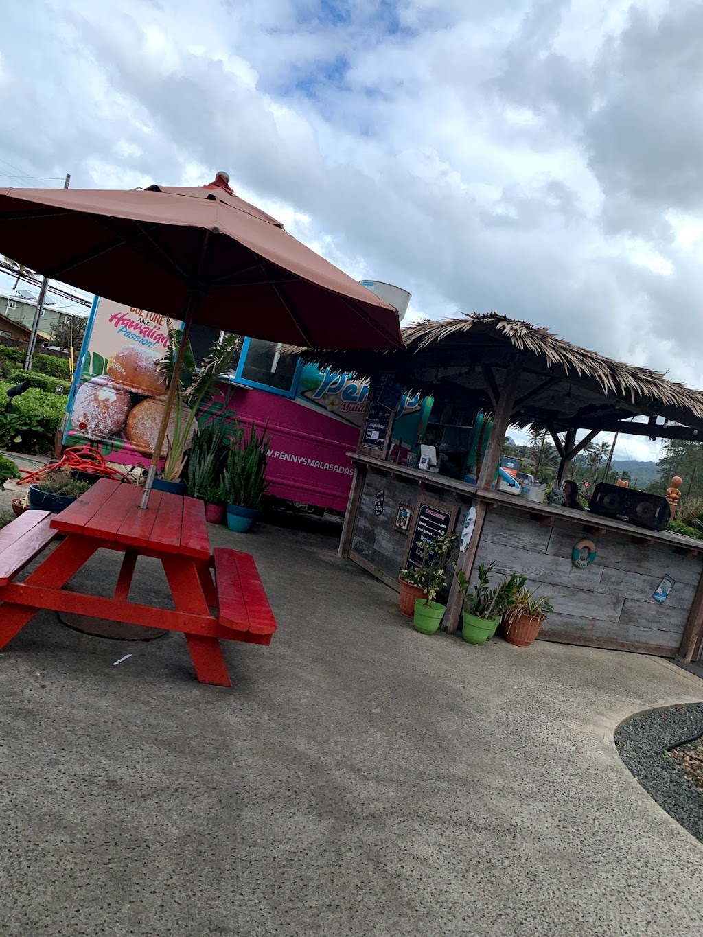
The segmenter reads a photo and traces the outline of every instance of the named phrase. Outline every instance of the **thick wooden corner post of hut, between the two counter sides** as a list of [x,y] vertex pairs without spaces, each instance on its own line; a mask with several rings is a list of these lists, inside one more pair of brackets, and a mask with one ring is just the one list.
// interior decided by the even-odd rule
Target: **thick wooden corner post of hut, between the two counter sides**
[[[484,461],[478,476],[477,484],[479,490],[489,490],[496,477],[496,469],[501,459],[502,442],[503,439],[505,439],[505,432],[510,425],[510,418],[513,415],[517,384],[521,372],[522,364],[518,363],[513,367],[509,366],[505,379],[503,380],[501,397],[498,401],[496,414],[493,418],[493,426],[490,431],[490,437],[488,438],[488,445],[486,446],[486,455],[484,456]],[[481,542],[481,532],[484,528],[484,521],[486,520],[486,511],[488,510],[486,501],[474,498],[473,504],[476,508],[476,520],[473,525],[473,530],[471,531],[471,537],[469,538],[467,548],[464,553],[459,554],[456,563],[456,573],[461,570],[467,579],[471,576],[473,563],[478,553],[478,545]],[[456,632],[459,617],[461,616],[461,609],[464,605],[464,596],[459,588],[456,573],[452,580],[452,587],[449,590],[447,610],[444,613],[441,626],[445,632],[450,634]]]

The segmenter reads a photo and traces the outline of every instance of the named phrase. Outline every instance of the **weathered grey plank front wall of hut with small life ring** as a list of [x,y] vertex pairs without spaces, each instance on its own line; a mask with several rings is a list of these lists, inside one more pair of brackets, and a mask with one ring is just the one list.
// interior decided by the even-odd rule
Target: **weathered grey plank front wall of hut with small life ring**
[[[595,543],[597,554],[581,570],[572,551],[584,538]],[[538,595],[551,597],[554,612],[540,633],[547,641],[664,657],[673,657],[681,644],[703,571],[700,556],[682,556],[663,543],[639,546],[614,531],[593,536],[567,520],[548,527],[505,508],[487,514],[472,579],[479,563],[491,561],[496,573],[522,573]],[[666,574],[675,585],[660,604],[652,594]]]

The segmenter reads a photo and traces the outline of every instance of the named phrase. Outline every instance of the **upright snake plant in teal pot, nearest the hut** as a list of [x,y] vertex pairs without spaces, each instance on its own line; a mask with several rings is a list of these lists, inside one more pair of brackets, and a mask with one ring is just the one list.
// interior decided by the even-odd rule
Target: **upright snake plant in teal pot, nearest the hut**
[[224,476],[227,526],[240,533],[245,533],[256,520],[268,485],[265,471],[271,439],[265,433],[264,429],[259,436],[256,424],[251,424],[248,438],[241,429],[232,435]]

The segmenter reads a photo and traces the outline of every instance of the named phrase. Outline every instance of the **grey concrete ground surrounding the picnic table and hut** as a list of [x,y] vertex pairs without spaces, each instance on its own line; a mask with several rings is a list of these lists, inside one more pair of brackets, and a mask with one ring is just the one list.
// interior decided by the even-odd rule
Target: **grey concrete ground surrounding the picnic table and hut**
[[[223,643],[231,691],[196,682],[180,634],[50,613],[0,654],[4,937],[700,933],[703,847],[612,739],[703,700],[697,677],[426,637],[334,538],[211,529],[255,555],[279,624]],[[166,601],[141,562],[133,597]],[[115,576],[106,553],[81,580]]]

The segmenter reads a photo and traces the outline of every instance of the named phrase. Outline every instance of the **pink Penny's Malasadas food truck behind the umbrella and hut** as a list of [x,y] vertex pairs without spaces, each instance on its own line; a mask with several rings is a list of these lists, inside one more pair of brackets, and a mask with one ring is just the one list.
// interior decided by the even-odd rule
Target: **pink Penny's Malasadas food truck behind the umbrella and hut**
[[[381,292],[378,286],[385,284],[374,286]],[[65,445],[85,441],[114,463],[149,464],[159,414],[155,397],[164,392],[156,362],[166,350],[169,328],[177,325],[96,298],[68,398]],[[213,330],[193,330],[196,359],[199,346],[206,351],[216,338]],[[243,426],[267,425],[267,493],[344,512],[353,476],[348,453],[358,441],[366,382],[283,356],[276,343],[246,338],[236,371],[222,386],[203,418],[221,415]],[[417,394],[400,397],[396,448],[416,449],[430,408],[431,401]]]

